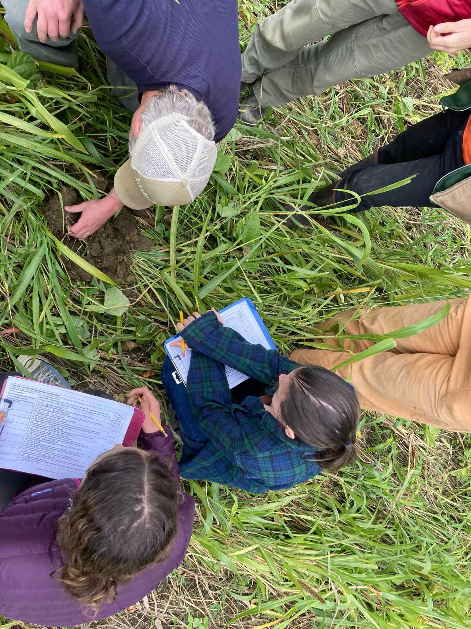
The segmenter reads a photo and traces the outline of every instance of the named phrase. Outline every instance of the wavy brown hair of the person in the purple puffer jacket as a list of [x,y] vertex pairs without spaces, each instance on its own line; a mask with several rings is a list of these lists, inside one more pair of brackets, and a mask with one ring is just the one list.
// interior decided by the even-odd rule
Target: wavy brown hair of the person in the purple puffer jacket
[[163,559],[176,533],[180,484],[153,452],[120,448],[92,464],[58,522],[60,581],[97,611],[119,582]]

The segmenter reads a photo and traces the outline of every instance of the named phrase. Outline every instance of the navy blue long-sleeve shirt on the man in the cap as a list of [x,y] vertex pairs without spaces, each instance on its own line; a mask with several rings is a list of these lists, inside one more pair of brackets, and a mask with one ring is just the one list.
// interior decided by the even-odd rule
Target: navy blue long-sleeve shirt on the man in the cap
[[139,94],[175,84],[212,113],[215,141],[239,110],[241,50],[237,0],[84,0],[101,50]]

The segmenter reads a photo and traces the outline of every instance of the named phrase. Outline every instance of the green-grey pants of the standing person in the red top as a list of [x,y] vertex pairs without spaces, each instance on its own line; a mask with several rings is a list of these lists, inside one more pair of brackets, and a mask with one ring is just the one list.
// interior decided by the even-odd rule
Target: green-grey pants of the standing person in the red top
[[[327,42],[313,42],[332,35]],[[389,72],[431,48],[394,0],[292,0],[259,21],[242,55],[242,81],[263,107],[349,79]]]

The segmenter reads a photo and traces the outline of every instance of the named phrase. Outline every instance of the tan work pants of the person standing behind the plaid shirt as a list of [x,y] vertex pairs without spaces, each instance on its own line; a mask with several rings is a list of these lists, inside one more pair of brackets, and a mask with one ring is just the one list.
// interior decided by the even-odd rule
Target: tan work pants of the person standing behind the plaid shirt
[[[446,430],[471,432],[471,294],[466,299],[452,299],[450,304],[445,319],[419,334],[396,340],[393,350],[335,369],[338,376],[351,379],[361,408]],[[359,319],[351,319],[358,312],[351,308],[325,325],[341,321],[344,334],[384,334],[418,323],[444,305],[443,301],[436,301],[364,308]],[[339,347],[338,338],[323,340]],[[344,349],[354,353],[371,345],[364,340],[343,341]],[[290,358],[332,369],[350,357],[346,351],[305,349],[296,350]]]

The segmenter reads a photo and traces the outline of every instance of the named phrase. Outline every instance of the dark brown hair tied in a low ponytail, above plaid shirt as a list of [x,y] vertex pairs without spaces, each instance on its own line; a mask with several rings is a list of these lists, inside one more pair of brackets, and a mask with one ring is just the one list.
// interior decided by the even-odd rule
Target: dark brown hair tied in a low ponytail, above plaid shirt
[[355,460],[360,407],[354,388],[318,365],[290,374],[280,403],[281,421],[302,442],[317,448],[313,460],[330,471]]

